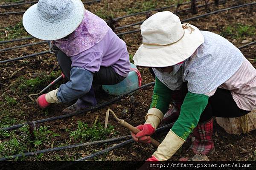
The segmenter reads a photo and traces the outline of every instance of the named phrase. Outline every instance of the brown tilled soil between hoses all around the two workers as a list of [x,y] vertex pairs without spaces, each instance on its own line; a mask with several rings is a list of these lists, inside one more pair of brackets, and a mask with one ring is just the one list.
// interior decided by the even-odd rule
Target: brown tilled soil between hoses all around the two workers
[[[145,2],[142,0],[141,2]],[[210,1],[212,3],[212,1]],[[189,8],[189,5],[180,6],[177,11],[177,15],[180,17],[180,20],[184,20],[196,15],[204,14],[209,11],[215,11],[221,8],[227,8],[231,6],[236,6],[244,3],[251,3],[252,0],[227,0],[225,4],[220,4],[218,7],[214,4],[209,4],[208,9],[201,7],[198,8],[198,14],[192,14],[190,10],[185,10]],[[173,1],[168,0],[152,0],[154,8],[159,8],[163,6],[172,5]],[[140,11],[145,11],[148,8],[145,7],[146,3],[138,3],[136,0],[102,0],[100,3],[93,3],[91,5],[85,5],[85,7],[92,11],[93,13],[98,14],[100,17],[103,17],[105,20],[109,19],[109,16],[120,17],[126,14]],[[199,0],[198,5],[203,5],[204,1]],[[25,11],[29,5],[12,7],[12,8],[1,8],[1,12],[8,11]],[[153,8],[153,7],[152,7]],[[131,12],[131,11],[134,12]],[[137,11],[136,11],[137,10]],[[166,10],[175,11],[175,7],[168,8]],[[189,23],[197,26],[201,30],[212,31],[216,34],[220,34],[230,40],[236,47],[240,47],[249,42],[256,40],[255,27],[256,27],[256,6],[247,6],[243,8],[236,8],[230,11],[221,12],[218,14],[209,15],[208,17],[200,18],[197,20],[190,21]],[[152,11],[151,14],[154,14],[155,11]],[[15,26],[17,23],[20,23],[22,20],[22,15],[0,15],[0,38],[3,40],[8,40],[9,30],[6,27]],[[116,26],[125,26],[146,19],[146,14],[136,15],[132,17],[126,17],[122,20],[119,20]],[[251,34],[243,33],[237,34],[241,31],[239,26],[248,26],[247,30],[253,31]],[[229,27],[235,29],[228,29]],[[132,31],[138,29],[139,26],[132,26],[125,29],[118,29],[116,33],[121,33],[125,31]],[[254,29],[253,29],[254,28]],[[244,28],[245,29],[245,28]],[[249,32],[245,31],[245,32]],[[18,37],[27,37],[29,36],[25,31],[21,31]],[[121,36],[126,43],[128,52],[134,54],[141,44],[142,37],[140,32],[133,34],[125,34]],[[39,42],[40,40],[24,40],[20,42],[11,42],[0,44],[0,49],[14,47],[17,45],[24,45],[32,42]],[[47,51],[49,48],[47,44],[34,45],[26,48],[19,48],[15,50],[3,51],[0,52],[0,61],[11,59],[15,57],[21,57],[28,54],[34,54],[41,51]],[[255,66],[256,62],[256,45],[250,45],[247,48],[242,48],[241,52],[244,54],[247,59]],[[61,110],[67,107],[67,105],[52,105],[47,111],[38,109],[36,105],[28,98],[28,95],[32,93],[29,89],[26,89],[22,93],[15,91],[15,88],[18,87],[20,77],[24,79],[32,79],[43,74],[49,74],[52,71],[58,71],[58,63],[55,56],[52,54],[44,54],[37,57],[27,58],[24,60],[19,60],[15,62],[8,62],[6,64],[0,64],[0,121],[3,118],[6,109],[9,111],[9,119],[15,119],[15,124],[20,122],[26,122],[27,120],[33,121],[38,119],[44,119],[53,116],[62,115]],[[153,82],[154,78],[151,76],[147,68],[139,68],[143,84]],[[48,82],[49,83],[49,82]],[[41,89],[45,87],[46,84],[42,84],[39,89],[33,91],[33,93],[38,93]],[[46,122],[36,126],[49,126],[49,130],[52,130],[54,133],[60,134],[52,138],[52,141],[41,144],[40,147],[31,146],[26,151],[30,150],[41,150],[51,147],[57,147],[60,145],[75,144],[79,141],[70,141],[70,135],[66,132],[65,129],[76,130],[77,122],[85,122],[89,126],[93,125],[95,120],[97,122],[105,122],[105,112],[108,108],[111,108],[117,116],[122,119],[126,119],[127,122],[136,126],[143,124],[144,116],[149,108],[151,103],[153,87],[147,87],[140,91],[137,91],[133,94],[135,102],[131,102],[131,96],[122,98],[119,102],[114,102],[108,107],[98,109],[96,111],[80,114],[79,116],[73,116],[66,119],[59,119],[52,122]],[[9,105],[8,99],[6,96],[14,98],[17,101],[15,105]],[[97,91],[96,96],[99,103],[106,102],[109,99],[112,99],[113,96],[109,96],[102,91]],[[131,109],[132,108],[132,109]],[[131,113],[133,110],[133,113]],[[22,114],[21,114],[22,113]],[[6,116],[6,115],[5,115]],[[123,127],[120,127],[117,122],[113,120],[110,116],[109,123],[114,126],[115,130],[118,131],[117,136],[125,136],[129,134],[129,131]],[[20,131],[15,131],[16,134],[19,134]],[[11,136],[10,136],[11,137]],[[10,138],[9,137],[9,138]],[[115,136],[108,136],[109,138]],[[161,141],[164,138],[164,134],[159,134],[154,136],[157,140]],[[214,135],[213,139],[215,141],[215,153],[209,156],[211,161],[249,161],[256,160],[256,130],[250,132],[249,134],[242,135],[230,135],[226,133],[221,127],[214,123]],[[0,143],[8,140],[9,138],[0,139]],[[84,141],[85,142],[85,141]],[[118,142],[116,142],[117,144]],[[181,156],[191,156],[190,151],[186,152],[191,144],[191,139],[189,138],[185,144],[178,150],[178,152],[170,160],[178,160]],[[38,156],[31,156],[23,158],[23,160],[76,160],[83,156],[88,156],[98,150],[105,149],[112,146],[112,144],[96,145],[96,146],[87,146],[80,147],[77,149],[70,150],[61,150],[58,152],[44,153],[40,158]],[[7,146],[8,147],[8,146]],[[151,147],[150,144],[139,144],[132,143],[128,144],[121,149],[113,150],[107,154],[95,158],[95,160],[122,160],[122,161],[143,161],[151,156],[154,153],[155,149]],[[17,153],[19,153],[17,151]],[[4,153],[1,153],[1,156],[4,156]]]

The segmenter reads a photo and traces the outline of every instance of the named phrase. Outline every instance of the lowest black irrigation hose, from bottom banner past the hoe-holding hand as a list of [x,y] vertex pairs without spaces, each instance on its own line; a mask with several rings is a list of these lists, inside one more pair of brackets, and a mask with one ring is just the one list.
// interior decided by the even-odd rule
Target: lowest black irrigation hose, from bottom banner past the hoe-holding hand
[[[173,124],[174,124],[174,123],[170,123],[169,125],[165,125],[165,126],[163,126],[163,127],[158,128],[158,129],[156,130],[156,133],[159,133],[159,132],[161,132],[161,131],[163,131],[163,130],[166,130],[167,128],[172,127]],[[121,143],[116,144],[116,145],[114,145],[114,146],[112,146],[112,147],[108,147],[107,149],[104,149],[104,150],[101,150],[101,151],[99,151],[99,152],[93,153],[93,154],[91,154],[91,155],[89,155],[89,156],[85,156],[85,157],[83,157],[83,158],[81,158],[81,159],[77,159],[76,161],[85,161],[85,160],[88,160],[88,159],[92,159],[92,158],[94,158],[94,157],[96,157],[96,156],[102,155],[103,153],[109,152],[109,151],[114,150],[114,149],[117,149],[117,148],[119,148],[119,147],[123,147],[123,146],[125,146],[126,144],[129,144],[129,143],[131,143],[131,142],[134,142],[134,140],[133,140],[133,139],[129,139],[129,140],[125,141],[125,142],[121,142]],[[71,165],[71,164],[70,164],[70,165]]]

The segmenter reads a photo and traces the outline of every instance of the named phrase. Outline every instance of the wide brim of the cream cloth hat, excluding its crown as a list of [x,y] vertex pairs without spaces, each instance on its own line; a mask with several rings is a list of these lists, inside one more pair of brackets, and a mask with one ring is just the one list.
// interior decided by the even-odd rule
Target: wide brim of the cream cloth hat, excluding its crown
[[204,43],[201,31],[195,26],[189,26],[195,30],[190,34],[189,29],[184,29],[183,38],[172,45],[140,45],[133,57],[134,64],[144,67],[168,67],[189,58]]

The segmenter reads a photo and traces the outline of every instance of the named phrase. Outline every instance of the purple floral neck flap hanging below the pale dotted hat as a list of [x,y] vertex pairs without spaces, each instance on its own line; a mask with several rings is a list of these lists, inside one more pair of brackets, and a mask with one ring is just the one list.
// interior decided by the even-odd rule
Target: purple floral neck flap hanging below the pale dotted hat
[[54,44],[71,57],[99,43],[108,30],[109,26],[104,20],[85,10],[84,19],[79,27],[67,37],[55,40]]

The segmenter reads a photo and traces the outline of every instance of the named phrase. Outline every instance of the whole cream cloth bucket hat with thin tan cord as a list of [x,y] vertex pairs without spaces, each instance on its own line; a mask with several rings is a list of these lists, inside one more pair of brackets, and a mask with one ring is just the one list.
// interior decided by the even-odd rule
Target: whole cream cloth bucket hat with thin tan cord
[[143,44],[133,57],[134,64],[145,67],[168,67],[189,58],[204,43],[201,31],[181,24],[170,11],[158,12],[140,26]]

